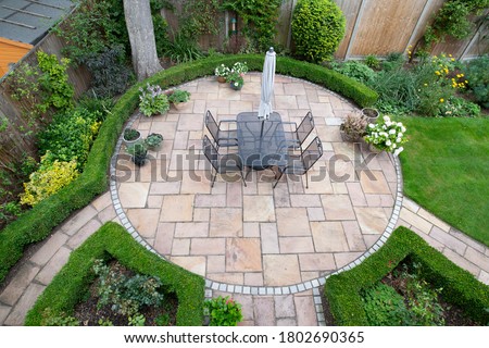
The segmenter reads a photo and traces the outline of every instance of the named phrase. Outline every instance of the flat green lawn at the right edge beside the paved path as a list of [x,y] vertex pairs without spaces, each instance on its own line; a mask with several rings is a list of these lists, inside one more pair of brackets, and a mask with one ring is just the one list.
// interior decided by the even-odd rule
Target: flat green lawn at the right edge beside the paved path
[[404,194],[489,246],[489,119],[401,121]]

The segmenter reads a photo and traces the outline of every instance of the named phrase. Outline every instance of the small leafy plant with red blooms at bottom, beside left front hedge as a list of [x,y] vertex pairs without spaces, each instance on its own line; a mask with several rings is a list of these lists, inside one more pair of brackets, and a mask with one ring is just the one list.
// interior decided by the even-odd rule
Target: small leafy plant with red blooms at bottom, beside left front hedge
[[204,310],[210,315],[211,326],[236,326],[242,320],[241,304],[229,296],[205,300]]

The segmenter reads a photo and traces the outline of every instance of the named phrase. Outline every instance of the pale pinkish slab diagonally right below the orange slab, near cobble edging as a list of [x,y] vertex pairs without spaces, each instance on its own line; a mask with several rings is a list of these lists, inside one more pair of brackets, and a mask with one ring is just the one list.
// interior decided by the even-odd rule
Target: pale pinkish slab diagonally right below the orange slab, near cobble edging
[[264,254],[265,286],[290,285],[301,282],[299,260],[294,254]]

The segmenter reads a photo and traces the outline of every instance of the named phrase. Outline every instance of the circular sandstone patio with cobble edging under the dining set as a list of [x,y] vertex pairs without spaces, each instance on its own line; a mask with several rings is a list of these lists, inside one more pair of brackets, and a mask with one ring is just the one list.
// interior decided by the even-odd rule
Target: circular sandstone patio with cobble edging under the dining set
[[[317,85],[277,75],[274,107],[298,124],[312,111],[324,154],[305,178],[273,173],[217,177],[201,152],[204,112],[217,120],[256,111],[261,74],[240,91],[215,77],[180,86],[191,92],[166,115],[135,113],[129,125],[161,133],[163,144],[135,167],[121,140],[113,158],[111,195],[124,226],[148,249],[206,278],[213,289],[277,295],[324,284],[324,275],[354,266],[390,235],[401,207],[397,159],[343,142],[341,119],[358,109]],[[233,150],[233,149],[231,149]]]

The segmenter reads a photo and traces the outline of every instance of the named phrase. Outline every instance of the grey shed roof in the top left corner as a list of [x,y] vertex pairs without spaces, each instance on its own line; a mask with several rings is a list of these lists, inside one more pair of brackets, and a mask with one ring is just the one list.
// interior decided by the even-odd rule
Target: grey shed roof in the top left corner
[[0,0],[0,37],[36,45],[73,7],[71,0]]

